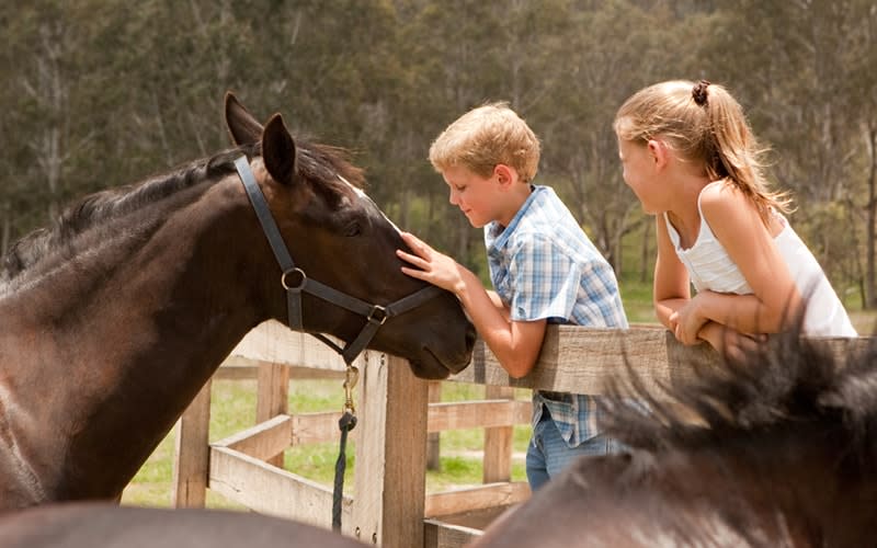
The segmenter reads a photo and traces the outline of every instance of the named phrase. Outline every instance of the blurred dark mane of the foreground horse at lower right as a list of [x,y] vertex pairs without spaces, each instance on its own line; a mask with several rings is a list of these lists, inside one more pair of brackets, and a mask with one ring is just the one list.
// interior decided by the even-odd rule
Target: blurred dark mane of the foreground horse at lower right
[[875,359],[877,344],[848,351],[841,362],[796,328],[740,358],[724,355],[718,367],[692,364],[691,381],[659,390],[648,389],[628,363],[627,379],[610,387],[601,423],[607,435],[649,452],[718,446],[791,423],[822,422],[848,429],[852,439],[875,439],[866,435],[877,427]]

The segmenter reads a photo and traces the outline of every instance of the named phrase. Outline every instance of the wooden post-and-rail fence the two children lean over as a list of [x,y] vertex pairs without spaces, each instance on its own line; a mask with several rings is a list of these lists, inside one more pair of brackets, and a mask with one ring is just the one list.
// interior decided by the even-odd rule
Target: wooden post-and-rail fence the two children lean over
[[[836,339],[846,353],[864,339]],[[529,402],[511,399],[513,388],[603,393],[606,378],[626,361],[647,386],[692,374],[694,363],[718,359],[705,345],[685,347],[662,328],[600,330],[551,326],[535,369],[512,379],[482,341],[471,364],[452,381],[486,385],[488,400],[430,403],[430,383],[417,379],[405,359],[367,352],[358,358],[358,424],[354,496],[344,498],[343,533],[386,548],[458,547],[480,534],[483,523],[529,495],[511,482],[512,425],[529,421]],[[291,378],[342,378],[340,357],[317,340],[267,322],[248,334],[219,375],[239,376],[258,366],[258,424],[208,444],[210,385],[184,413],[176,435],[175,506],[203,506],[205,490],[217,491],[260,513],[329,527],[329,487],[278,467],[289,446],[338,439],[340,412],[287,414]],[[252,370],[252,369],[250,369]],[[342,401],[339,381],[339,402]],[[433,398],[434,399],[434,398]],[[339,409],[340,409],[339,403]],[[485,483],[445,493],[425,492],[428,436],[455,429],[485,427]]]

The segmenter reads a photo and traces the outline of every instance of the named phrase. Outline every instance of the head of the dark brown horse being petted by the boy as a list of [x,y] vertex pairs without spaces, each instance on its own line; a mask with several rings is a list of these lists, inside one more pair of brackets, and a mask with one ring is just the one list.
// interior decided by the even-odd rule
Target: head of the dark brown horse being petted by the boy
[[[275,264],[261,269],[259,284],[270,317],[294,329],[334,335],[349,345],[373,322],[368,347],[407,358],[417,376],[445,378],[463,369],[471,357],[475,331],[452,294],[432,289],[429,298],[417,299],[417,306],[406,307],[403,313],[387,313],[431,286],[402,274],[395,250],[406,244],[361,189],[361,170],[348,163],[340,149],[297,142],[281,114],[263,126],[231,93],[226,95],[225,111],[232,141],[252,151],[244,164],[252,169],[295,264],[294,272],[278,272],[265,239],[262,260]],[[307,287],[300,290],[315,283],[323,288],[322,296]],[[298,290],[300,296],[291,297]],[[343,296],[332,301],[327,292]],[[350,300],[344,296],[365,306],[365,311],[345,306]],[[285,306],[289,298],[300,301]]]

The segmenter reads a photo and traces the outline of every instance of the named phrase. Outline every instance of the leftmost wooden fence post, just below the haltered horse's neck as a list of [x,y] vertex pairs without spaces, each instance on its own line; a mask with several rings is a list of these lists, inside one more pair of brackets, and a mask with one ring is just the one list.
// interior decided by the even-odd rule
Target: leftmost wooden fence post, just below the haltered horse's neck
[[209,470],[212,379],[176,421],[171,506],[203,509],[207,499]]

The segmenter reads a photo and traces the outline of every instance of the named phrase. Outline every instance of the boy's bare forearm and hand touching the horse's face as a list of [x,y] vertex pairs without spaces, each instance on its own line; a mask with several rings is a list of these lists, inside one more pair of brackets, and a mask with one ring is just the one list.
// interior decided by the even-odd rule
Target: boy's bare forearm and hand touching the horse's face
[[402,239],[414,254],[402,250],[397,250],[396,254],[417,266],[403,266],[402,272],[456,295],[478,334],[509,375],[517,378],[529,373],[542,349],[546,320],[509,321],[509,313],[499,297],[494,301],[471,271],[413,235],[403,232]]

